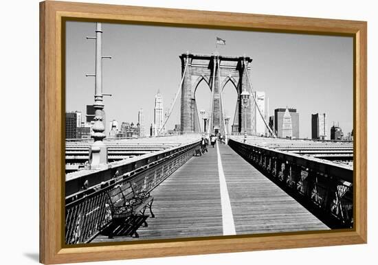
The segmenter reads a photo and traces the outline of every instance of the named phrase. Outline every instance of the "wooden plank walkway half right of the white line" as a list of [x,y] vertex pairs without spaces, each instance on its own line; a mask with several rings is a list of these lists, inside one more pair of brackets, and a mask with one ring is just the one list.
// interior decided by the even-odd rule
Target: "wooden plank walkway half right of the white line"
[[236,234],[329,229],[229,146],[219,148]]

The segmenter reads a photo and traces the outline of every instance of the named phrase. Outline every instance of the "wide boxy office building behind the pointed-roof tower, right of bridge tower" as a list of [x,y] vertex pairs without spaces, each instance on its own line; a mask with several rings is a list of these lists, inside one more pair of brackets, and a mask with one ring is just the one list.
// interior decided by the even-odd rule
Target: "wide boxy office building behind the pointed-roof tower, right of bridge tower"
[[[296,108],[276,108],[274,110],[274,130],[276,131],[277,137],[286,137],[282,135],[282,128],[284,122],[284,115],[288,112],[291,118],[291,137],[299,138],[299,113],[297,113]],[[286,117],[287,126],[289,122],[289,117]],[[287,130],[287,128],[285,128]],[[288,131],[286,131],[287,134]]]

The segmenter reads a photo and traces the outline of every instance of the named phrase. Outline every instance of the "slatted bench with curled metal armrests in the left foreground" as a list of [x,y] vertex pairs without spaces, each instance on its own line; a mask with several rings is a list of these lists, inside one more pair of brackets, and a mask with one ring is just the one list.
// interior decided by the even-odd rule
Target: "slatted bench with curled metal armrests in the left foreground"
[[134,192],[130,183],[124,183],[108,192],[109,205],[111,209],[112,222],[108,227],[109,238],[115,234],[131,235],[139,238],[137,229],[142,224],[147,227],[145,214],[148,207],[151,217],[155,215],[152,211],[153,196],[145,192]]

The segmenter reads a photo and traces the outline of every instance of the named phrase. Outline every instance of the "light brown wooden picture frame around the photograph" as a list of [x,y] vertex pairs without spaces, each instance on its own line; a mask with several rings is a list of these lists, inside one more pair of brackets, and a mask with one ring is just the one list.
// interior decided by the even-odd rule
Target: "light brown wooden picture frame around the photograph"
[[[354,40],[354,201],[353,229],[133,242],[106,246],[65,246],[64,104],[62,23],[65,18],[147,25],[351,36]],[[367,241],[367,23],[333,19],[205,12],[123,5],[44,1],[40,3],[40,262],[43,264],[121,260]]]

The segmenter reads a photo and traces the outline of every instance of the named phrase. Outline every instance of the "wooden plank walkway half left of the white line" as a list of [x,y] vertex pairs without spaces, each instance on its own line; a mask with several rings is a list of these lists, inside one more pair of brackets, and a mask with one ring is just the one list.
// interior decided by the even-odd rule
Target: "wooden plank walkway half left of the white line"
[[[151,192],[155,218],[140,227],[139,240],[223,235],[216,148],[193,157]],[[92,242],[138,240],[99,235]]]

